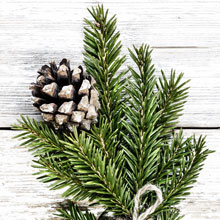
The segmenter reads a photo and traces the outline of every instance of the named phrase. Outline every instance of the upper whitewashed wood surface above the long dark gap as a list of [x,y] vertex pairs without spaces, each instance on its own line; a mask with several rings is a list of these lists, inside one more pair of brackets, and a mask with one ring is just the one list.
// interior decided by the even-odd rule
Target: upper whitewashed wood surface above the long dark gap
[[[156,68],[191,78],[179,126],[220,127],[220,2],[218,0],[103,1],[118,14],[123,52],[142,42],[155,48]],[[2,0],[0,2],[0,127],[19,114],[36,116],[28,85],[50,60],[82,63],[83,18],[96,1]],[[127,64],[130,64],[128,59]]]

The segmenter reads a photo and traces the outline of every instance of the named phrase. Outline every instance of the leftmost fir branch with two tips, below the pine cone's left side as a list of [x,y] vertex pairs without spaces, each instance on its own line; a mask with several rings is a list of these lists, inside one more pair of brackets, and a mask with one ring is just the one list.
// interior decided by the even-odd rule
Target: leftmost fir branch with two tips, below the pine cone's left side
[[55,133],[45,123],[38,123],[34,119],[21,116],[18,124],[13,126],[15,130],[23,131],[14,138],[23,141],[20,146],[27,147],[36,158],[33,167],[38,168],[40,179],[44,183],[51,183],[52,190],[65,188],[63,196],[74,196],[77,200],[88,197],[88,191],[75,176],[75,169],[71,166],[64,153],[65,140],[63,134]]

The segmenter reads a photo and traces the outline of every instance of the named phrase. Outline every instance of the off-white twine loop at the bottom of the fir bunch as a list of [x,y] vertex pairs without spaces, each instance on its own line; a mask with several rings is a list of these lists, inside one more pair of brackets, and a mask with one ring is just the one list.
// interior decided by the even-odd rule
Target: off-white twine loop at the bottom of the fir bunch
[[[157,200],[156,202],[150,206],[145,212],[140,214],[138,216],[139,212],[139,206],[140,206],[140,199],[141,196],[146,192],[146,191],[154,191],[157,195]],[[133,220],[144,220],[147,219],[150,214],[152,214],[156,208],[163,202],[163,196],[161,190],[156,187],[155,185],[152,184],[146,184],[142,188],[140,188],[135,196],[134,199],[134,212],[133,212]]]

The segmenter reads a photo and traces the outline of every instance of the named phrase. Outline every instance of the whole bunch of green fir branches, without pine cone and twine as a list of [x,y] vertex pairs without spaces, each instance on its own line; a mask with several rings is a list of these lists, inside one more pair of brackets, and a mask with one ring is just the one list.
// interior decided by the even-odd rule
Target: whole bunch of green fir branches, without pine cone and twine
[[[163,71],[157,78],[152,51],[144,44],[129,49],[135,65],[121,70],[125,56],[120,56],[116,17],[108,18],[103,6],[89,12],[93,20],[85,19],[84,63],[97,82],[98,123],[90,132],[62,134],[22,117],[14,126],[23,131],[17,138],[33,152],[42,182],[54,190],[67,187],[63,196],[88,199],[106,213],[131,219],[138,189],[151,183],[161,189],[164,200],[150,218],[178,220],[182,216],[175,206],[189,194],[211,153],[204,137],[185,138],[182,130],[175,130],[188,81],[174,70],[169,79]],[[154,193],[145,193],[140,212],[155,199]],[[59,212],[64,219],[95,219],[72,202]]]

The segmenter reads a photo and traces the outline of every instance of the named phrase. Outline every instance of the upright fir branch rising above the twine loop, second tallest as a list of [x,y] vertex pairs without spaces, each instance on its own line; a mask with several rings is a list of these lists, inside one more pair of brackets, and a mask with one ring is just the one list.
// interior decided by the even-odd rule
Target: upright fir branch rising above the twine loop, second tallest
[[160,113],[156,112],[156,80],[153,75],[154,66],[151,64],[151,51],[146,45],[142,45],[140,49],[134,47],[134,51],[135,54],[129,50],[139,72],[129,67],[134,82],[129,82],[126,88],[130,106],[124,107],[127,120],[123,121],[123,125],[127,132],[123,133],[123,137],[126,141],[124,151],[127,155],[130,187],[136,194],[156,173],[161,128],[156,127]]

